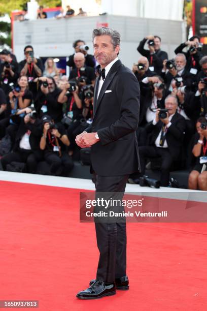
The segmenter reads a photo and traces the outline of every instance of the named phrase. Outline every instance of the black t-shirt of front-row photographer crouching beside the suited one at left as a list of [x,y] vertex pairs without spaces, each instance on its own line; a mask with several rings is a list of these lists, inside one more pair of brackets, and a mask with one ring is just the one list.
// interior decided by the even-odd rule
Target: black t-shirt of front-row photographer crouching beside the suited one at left
[[[61,123],[57,123],[56,127],[57,127],[58,132],[61,134],[61,136],[66,135],[64,126]],[[58,144],[59,144],[61,152],[64,152],[66,146],[62,143],[61,139],[52,135],[51,131],[52,130],[49,130],[47,133],[45,151],[53,151],[53,152],[59,154],[59,151],[57,149]],[[58,144],[57,144],[57,142],[58,142]]]

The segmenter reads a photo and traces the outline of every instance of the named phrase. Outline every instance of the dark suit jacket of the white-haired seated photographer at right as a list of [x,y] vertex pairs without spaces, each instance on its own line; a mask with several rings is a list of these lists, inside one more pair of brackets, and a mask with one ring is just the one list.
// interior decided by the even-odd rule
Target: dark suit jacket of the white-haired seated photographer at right
[[[179,158],[179,155],[181,154],[181,147],[184,139],[185,118],[181,114],[176,112],[171,119],[171,123],[171,126],[167,129],[166,142],[172,158],[174,158],[174,160],[177,160]],[[155,126],[151,122],[147,127],[147,132],[152,134],[150,139],[150,145],[155,144],[155,140],[161,131],[162,125],[162,121],[159,120],[159,122],[157,122]]]

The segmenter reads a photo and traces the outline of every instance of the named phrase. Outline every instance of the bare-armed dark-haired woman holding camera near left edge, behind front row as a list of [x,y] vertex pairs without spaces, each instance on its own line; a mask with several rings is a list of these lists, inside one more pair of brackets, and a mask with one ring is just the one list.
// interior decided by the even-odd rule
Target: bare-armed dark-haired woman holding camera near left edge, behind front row
[[28,90],[28,79],[25,76],[18,79],[17,86],[10,84],[10,88],[12,90],[9,92],[9,104],[5,111],[6,117],[0,121],[0,138],[7,133],[14,143],[18,125],[11,119],[11,115],[16,114],[18,109],[26,108],[31,104],[32,93]]

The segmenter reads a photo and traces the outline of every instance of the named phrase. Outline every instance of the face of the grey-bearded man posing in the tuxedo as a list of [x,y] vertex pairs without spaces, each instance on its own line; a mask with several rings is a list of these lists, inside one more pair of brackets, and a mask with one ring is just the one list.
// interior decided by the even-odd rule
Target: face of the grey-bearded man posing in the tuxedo
[[119,45],[114,49],[110,36],[96,36],[93,40],[93,52],[98,64],[104,68],[117,57]]

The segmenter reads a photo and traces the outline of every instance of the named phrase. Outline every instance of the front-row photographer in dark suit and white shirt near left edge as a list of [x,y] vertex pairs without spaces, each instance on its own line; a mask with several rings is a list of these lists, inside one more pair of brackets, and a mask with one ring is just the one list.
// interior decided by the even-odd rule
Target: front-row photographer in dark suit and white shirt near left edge
[[[25,116],[19,117],[24,113]],[[26,163],[26,171],[28,173],[36,173],[37,162],[41,160],[40,137],[41,137],[41,121],[37,118],[37,112],[27,107],[21,109],[15,115],[15,121],[20,123],[13,152],[4,155],[1,159],[4,170],[11,162]]]

